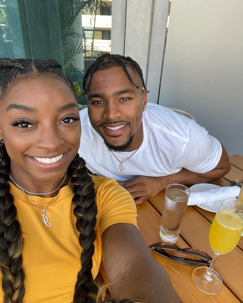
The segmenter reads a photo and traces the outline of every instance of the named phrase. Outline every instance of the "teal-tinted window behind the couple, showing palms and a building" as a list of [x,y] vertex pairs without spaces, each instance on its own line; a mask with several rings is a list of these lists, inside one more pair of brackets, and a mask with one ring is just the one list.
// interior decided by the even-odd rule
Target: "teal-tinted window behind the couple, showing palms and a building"
[[0,0],[0,58],[56,59],[83,89],[87,68],[111,52],[111,6],[112,0]]

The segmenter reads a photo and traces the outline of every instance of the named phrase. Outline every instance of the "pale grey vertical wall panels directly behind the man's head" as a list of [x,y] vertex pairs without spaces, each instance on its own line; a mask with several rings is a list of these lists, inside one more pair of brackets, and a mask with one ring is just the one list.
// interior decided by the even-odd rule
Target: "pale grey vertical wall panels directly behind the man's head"
[[138,62],[153,103],[159,97],[168,8],[169,0],[112,1],[111,53]]

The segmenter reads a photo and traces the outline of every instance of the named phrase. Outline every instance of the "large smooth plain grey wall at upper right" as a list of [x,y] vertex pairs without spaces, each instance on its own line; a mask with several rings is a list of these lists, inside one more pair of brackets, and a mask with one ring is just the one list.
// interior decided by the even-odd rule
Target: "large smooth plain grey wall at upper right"
[[242,0],[171,2],[159,104],[190,112],[229,155],[243,155],[242,33]]

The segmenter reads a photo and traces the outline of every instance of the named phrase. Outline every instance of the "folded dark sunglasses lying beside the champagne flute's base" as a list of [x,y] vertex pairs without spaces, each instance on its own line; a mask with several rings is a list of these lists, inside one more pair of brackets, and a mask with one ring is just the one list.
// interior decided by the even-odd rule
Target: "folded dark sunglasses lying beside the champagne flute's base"
[[[210,265],[212,258],[205,251],[201,251],[200,249],[187,247],[180,248],[178,245],[174,243],[165,243],[165,242],[157,242],[155,244],[149,245],[149,248],[152,248],[156,254],[162,255],[170,260],[176,261],[181,264],[196,266],[196,265]],[[184,258],[181,256],[174,256],[167,253],[165,250],[176,251],[182,254],[187,254],[197,259]]]

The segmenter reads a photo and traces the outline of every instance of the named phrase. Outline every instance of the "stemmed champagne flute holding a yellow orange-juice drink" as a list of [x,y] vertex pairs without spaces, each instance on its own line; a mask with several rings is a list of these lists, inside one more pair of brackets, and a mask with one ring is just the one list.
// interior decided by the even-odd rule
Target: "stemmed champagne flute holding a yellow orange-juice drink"
[[243,203],[234,199],[226,199],[220,205],[209,231],[209,242],[214,257],[208,267],[198,267],[192,273],[197,288],[206,294],[214,295],[223,287],[222,279],[214,271],[219,255],[224,255],[235,248],[243,230]]

